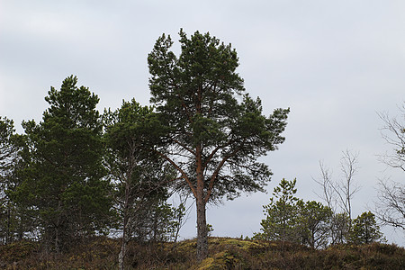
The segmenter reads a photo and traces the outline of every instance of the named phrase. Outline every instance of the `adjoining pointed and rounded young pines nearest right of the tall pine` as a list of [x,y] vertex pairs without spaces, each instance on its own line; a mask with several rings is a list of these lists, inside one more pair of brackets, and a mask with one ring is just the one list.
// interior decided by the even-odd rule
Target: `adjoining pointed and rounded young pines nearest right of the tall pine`
[[261,232],[254,238],[302,243],[312,248],[327,247],[338,238],[341,220],[335,219],[340,216],[320,202],[303,202],[295,197],[295,184],[296,179],[283,179],[275,187],[270,203],[264,205],[266,219],[260,223]]

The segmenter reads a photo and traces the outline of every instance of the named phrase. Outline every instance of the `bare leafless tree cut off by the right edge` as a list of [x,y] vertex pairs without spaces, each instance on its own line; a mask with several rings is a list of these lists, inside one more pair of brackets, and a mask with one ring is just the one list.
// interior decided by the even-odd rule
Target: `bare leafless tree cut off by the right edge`
[[[405,172],[405,102],[399,107],[400,117],[390,117],[387,112],[378,113],[384,122],[382,136],[392,146],[392,151],[380,156],[387,166]],[[405,229],[405,184],[381,180],[375,214],[385,225]]]

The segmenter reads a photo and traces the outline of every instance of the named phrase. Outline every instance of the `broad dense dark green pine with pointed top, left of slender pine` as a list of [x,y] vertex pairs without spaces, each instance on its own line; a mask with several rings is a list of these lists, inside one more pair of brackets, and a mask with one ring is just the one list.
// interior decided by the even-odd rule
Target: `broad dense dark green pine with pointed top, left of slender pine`
[[51,87],[42,121],[23,122],[28,161],[15,201],[36,211],[42,237],[57,250],[110,223],[110,186],[103,180],[99,99],[67,77]]

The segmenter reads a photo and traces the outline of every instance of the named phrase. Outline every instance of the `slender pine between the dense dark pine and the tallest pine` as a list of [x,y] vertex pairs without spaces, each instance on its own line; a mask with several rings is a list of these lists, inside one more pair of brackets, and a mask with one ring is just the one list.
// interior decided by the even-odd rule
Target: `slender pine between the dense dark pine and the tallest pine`
[[114,185],[120,227],[125,237],[160,241],[170,235],[172,208],[166,203],[167,177],[162,159],[150,151],[159,121],[152,107],[135,100],[115,112],[105,111],[104,165]]

